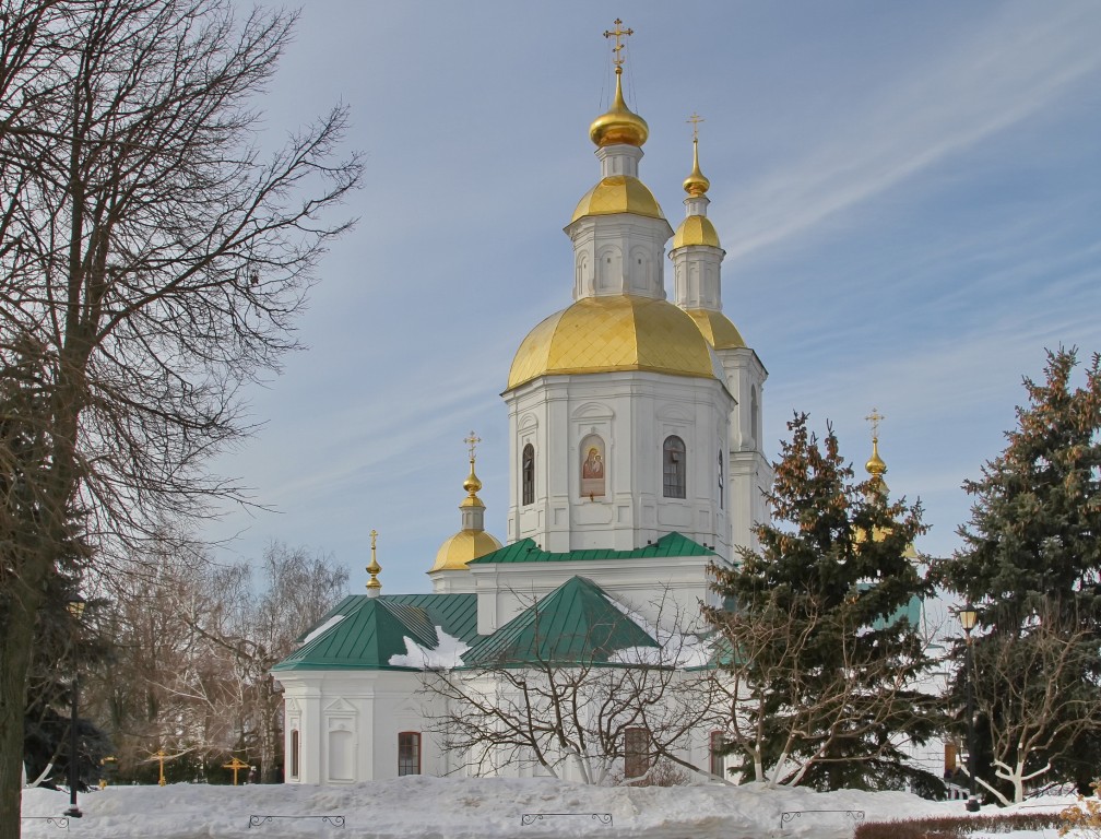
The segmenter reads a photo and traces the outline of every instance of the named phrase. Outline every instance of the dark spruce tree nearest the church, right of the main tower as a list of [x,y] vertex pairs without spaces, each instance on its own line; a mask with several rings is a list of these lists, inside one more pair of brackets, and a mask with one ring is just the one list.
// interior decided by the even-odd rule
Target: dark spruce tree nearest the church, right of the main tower
[[900,745],[936,728],[931,697],[915,689],[928,666],[907,612],[930,593],[908,558],[925,532],[919,503],[891,501],[882,477],[857,482],[828,428],[788,423],[759,523],[759,553],[715,569],[726,608],[705,612],[726,636],[735,699],[728,738],[746,777],[821,789],[936,787],[904,765]]

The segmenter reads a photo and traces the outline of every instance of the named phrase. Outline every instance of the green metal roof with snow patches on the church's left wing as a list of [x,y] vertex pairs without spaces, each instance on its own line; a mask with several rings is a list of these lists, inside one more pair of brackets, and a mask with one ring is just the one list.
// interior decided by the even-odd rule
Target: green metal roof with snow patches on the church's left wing
[[353,595],[337,603],[317,625],[338,614],[342,618],[337,624],[272,669],[410,669],[389,664],[391,656],[406,653],[406,638],[434,649],[436,626],[467,643],[478,634],[476,595]]

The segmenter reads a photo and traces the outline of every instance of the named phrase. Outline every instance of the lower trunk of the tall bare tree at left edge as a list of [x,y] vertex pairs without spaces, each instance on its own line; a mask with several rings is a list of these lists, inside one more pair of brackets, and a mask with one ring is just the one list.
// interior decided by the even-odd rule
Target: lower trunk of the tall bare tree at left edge
[[[32,582],[32,580],[21,580]],[[22,586],[20,586],[22,588]],[[19,839],[23,794],[23,717],[39,587],[11,592],[0,632],[0,839]]]

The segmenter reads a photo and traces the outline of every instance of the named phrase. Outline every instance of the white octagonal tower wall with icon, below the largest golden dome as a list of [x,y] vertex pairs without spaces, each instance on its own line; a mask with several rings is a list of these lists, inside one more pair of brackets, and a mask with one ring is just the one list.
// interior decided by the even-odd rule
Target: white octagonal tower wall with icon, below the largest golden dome
[[[718,380],[643,371],[543,377],[509,391],[511,469],[508,541],[544,551],[630,551],[672,531],[730,556],[719,451],[733,401]],[[606,446],[606,491],[581,491],[582,442]],[[663,494],[666,437],[686,446],[686,498]],[[524,446],[535,448],[535,498],[522,503]]]

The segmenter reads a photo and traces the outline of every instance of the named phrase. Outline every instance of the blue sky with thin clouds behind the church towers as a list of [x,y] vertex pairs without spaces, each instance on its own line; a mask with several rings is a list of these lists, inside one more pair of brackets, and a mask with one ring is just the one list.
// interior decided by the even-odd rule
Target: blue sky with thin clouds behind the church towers
[[[258,431],[212,468],[268,510],[203,534],[225,562],[272,541],[383,592],[429,590],[460,527],[473,429],[502,541],[508,415],[527,331],[570,303],[562,228],[599,179],[612,90],[650,124],[640,176],[675,228],[689,115],[727,251],[723,306],[768,371],[766,455],[807,412],[862,470],[865,417],[918,549],[956,549],[960,488],[1004,446],[1045,348],[1101,351],[1101,4],[310,0],[264,97],[276,141],[348,106],[357,227],[318,270],[308,349],[246,394]],[[672,294],[672,268],[666,265]]]

